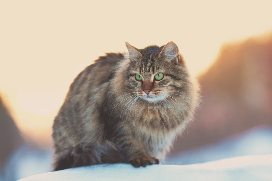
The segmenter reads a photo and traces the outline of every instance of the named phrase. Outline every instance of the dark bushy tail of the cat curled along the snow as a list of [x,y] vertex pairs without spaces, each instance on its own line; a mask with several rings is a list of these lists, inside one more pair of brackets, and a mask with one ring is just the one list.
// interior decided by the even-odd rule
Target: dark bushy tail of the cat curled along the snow
[[56,152],[53,162],[53,171],[57,171],[100,163],[125,162],[125,157],[109,144],[102,146],[95,143],[80,143],[75,147]]

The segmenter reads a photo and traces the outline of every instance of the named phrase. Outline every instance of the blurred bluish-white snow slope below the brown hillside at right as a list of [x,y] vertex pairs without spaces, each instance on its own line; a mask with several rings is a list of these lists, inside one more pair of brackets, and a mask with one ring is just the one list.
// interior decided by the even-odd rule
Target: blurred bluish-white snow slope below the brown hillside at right
[[194,164],[255,154],[272,154],[272,129],[267,127],[253,128],[220,142],[168,157],[164,164]]

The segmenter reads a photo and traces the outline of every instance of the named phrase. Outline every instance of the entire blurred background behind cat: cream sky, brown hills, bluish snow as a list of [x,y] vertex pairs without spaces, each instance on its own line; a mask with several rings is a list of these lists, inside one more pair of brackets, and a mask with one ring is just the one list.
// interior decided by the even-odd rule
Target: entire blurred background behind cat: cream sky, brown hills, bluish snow
[[70,84],[105,52],[174,41],[202,105],[164,164],[272,153],[271,1],[1,1],[0,181],[51,170]]

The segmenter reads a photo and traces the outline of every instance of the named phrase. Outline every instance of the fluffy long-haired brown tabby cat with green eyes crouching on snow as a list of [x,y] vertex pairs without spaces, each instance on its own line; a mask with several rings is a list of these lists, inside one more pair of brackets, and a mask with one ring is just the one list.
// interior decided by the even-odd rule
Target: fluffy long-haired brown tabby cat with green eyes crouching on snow
[[53,170],[159,164],[192,120],[199,89],[177,45],[107,53],[74,80],[53,123]]

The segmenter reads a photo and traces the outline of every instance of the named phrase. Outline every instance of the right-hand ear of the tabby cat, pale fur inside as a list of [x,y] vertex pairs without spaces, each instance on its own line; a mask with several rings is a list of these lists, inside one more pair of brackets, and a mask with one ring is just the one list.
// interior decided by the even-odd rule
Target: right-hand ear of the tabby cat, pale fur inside
[[176,43],[172,41],[166,43],[160,52],[159,57],[164,57],[167,61],[175,61],[176,63],[179,62],[180,55]]

